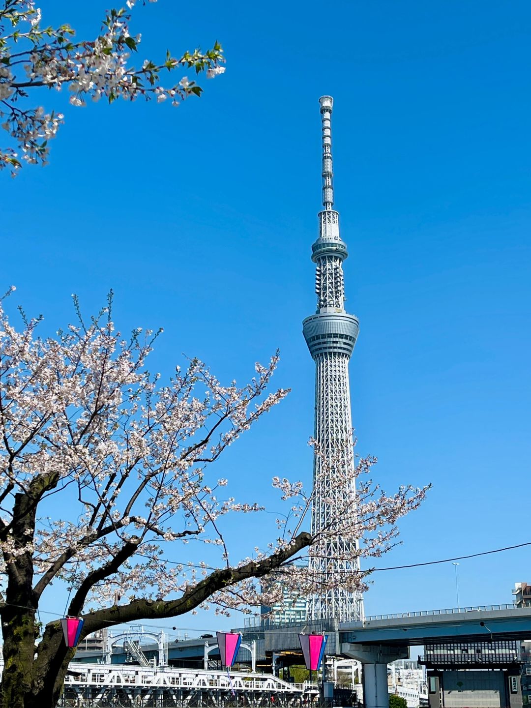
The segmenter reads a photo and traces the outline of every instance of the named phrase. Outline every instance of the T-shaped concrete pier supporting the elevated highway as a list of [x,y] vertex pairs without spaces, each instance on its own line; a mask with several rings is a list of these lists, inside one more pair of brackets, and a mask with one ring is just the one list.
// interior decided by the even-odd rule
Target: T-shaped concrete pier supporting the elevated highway
[[389,708],[387,664],[409,657],[407,646],[385,644],[343,644],[341,653],[362,664],[363,704],[365,708]]

